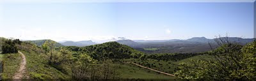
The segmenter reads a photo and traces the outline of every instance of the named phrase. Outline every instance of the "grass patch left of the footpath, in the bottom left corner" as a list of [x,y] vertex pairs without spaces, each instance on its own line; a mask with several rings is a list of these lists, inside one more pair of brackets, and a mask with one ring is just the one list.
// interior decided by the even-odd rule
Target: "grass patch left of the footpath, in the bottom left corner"
[[19,70],[20,61],[22,58],[20,57],[20,54],[4,54],[3,61],[4,61],[4,68],[2,73],[3,79],[11,79],[15,72]]

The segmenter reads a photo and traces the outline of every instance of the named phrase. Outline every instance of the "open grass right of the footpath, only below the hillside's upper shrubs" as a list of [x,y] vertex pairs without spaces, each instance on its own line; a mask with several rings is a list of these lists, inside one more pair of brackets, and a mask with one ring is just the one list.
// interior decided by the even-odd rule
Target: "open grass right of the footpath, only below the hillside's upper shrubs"
[[36,52],[29,51],[21,51],[25,54],[27,59],[26,64],[26,76],[31,79],[41,79],[41,80],[67,80],[70,77],[61,71],[49,66],[47,64],[47,59],[44,59],[40,54],[36,54]]

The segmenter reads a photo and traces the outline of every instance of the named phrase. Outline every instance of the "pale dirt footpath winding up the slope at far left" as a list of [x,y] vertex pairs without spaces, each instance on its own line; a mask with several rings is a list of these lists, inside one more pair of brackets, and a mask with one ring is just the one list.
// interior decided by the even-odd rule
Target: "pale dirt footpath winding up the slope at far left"
[[25,55],[22,54],[22,52],[19,52],[19,54],[22,57],[22,61],[20,63],[19,71],[17,71],[15,73],[15,75],[13,76],[13,80],[15,80],[15,81],[20,81],[22,79],[23,74],[25,73],[25,69],[26,69],[25,66],[26,66],[26,63],[27,63]]

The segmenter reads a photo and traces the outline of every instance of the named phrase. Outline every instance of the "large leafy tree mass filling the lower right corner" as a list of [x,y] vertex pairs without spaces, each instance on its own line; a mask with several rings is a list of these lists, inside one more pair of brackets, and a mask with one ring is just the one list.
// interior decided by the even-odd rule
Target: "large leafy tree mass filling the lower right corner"
[[219,48],[210,52],[212,59],[180,63],[178,80],[255,80],[256,41],[242,48],[228,38],[216,39]]

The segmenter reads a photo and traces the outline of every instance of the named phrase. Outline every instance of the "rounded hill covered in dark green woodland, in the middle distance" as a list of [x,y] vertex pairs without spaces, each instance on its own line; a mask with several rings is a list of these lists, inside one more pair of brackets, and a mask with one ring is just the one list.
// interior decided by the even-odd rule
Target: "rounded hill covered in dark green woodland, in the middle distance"
[[89,54],[93,59],[124,59],[124,58],[140,58],[143,52],[134,50],[127,45],[121,45],[115,41],[102,43],[99,45],[91,45],[87,47],[67,47],[73,52],[79,54]]

